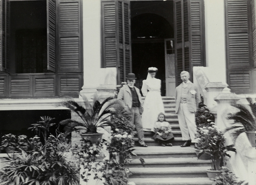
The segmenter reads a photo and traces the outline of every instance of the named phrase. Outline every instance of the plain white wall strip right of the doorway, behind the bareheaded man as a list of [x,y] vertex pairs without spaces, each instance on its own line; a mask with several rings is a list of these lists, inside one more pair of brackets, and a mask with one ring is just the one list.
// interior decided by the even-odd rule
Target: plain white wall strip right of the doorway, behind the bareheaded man
[[226,83],[224,0],[204,0],[204,14],[207,67],[199,68],[204,70],[210,82]]

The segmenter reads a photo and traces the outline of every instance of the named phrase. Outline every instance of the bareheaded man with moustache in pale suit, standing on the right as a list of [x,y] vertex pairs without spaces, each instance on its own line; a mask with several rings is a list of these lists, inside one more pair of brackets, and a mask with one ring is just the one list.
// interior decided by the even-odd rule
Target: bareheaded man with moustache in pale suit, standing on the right
[[201,101],[200,93],[198,91],[198,87],[189,81],[189,72],[182,71],[180,73],[180,78],[183,82],[175,89],[175,113],[178,114],[182,140],[185,141],[185,143],[180,146],[189,147],[192,142],[196,148],[195,112]]

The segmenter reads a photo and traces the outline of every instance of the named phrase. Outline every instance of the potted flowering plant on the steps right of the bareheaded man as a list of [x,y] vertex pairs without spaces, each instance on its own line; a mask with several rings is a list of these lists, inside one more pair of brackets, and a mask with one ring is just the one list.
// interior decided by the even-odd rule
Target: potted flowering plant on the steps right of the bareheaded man
[[[201,140],[204,141],[204,144],[209,146],[209,151],[202,150],[198,154],[198,159],[203,153],[207,153],[210,156],[212,170],[220,170],[224,165],[224,157],[230,155],[227,151],[236,152],[236,149],[233,145],[225,146],[225,137],[224,132],[218,130],[213,122],[211,122],[212,126],[199,128],[200,137],[198,144]],[[197,134],[196,134],[197,136]]]

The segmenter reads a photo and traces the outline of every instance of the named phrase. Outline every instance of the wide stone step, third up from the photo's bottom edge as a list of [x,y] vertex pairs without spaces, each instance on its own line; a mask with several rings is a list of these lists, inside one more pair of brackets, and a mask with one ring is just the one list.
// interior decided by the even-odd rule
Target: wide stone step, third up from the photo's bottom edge
[[[145,168],[157,167],[157,168],[168,168],[168,167],[196,167],[196,166],[208,166],[211,168],[209,160],[198,160],[197,157],[180,157],[180,158],[151,158],[144,159]],[[142,168],[140,160],[133,160],[129,164],[129,168]]]

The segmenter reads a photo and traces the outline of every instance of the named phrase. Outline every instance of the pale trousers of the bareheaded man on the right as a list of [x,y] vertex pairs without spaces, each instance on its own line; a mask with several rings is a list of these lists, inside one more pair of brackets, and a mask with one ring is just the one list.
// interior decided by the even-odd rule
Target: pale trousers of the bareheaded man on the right
[[196,124],[195,113],[192,113],[188,109],[187,104],[180,104],[178,110],[178,121],[180,125],[181,135],[183,141],[191,140],[192,143],[197,143],[195,139]]

